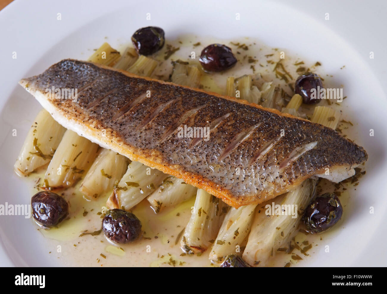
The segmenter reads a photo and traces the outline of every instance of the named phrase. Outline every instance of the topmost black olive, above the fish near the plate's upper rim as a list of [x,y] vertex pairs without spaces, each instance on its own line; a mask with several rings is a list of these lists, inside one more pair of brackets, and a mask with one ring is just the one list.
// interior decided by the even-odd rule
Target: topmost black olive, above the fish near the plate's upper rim
[[146,27],[135,31],[132,42],[141,55],[151,55],[164,46],[164,30],[158,27]]

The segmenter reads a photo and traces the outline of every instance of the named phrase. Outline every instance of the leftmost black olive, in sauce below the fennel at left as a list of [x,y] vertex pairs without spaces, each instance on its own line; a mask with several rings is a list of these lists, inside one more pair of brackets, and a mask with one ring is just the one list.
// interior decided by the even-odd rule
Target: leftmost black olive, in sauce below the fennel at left
[[44,227],[56,227],[68,215],[68,204],[58,194],[41,191],[31,198],[33,217]]

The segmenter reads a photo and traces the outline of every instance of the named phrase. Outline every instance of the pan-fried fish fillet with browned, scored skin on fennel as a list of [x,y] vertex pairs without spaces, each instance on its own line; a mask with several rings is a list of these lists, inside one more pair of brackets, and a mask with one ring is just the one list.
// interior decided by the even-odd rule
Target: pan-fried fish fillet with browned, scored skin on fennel
[[[62,60],[19,83],[64,127],[236,208],[272,199],[312,175],[341,181],[368,158],[320,124],[89,62]],[[52,86],[78,89],[77,101],[47,98]],[[179,138],[184,125],[210,127],[209,140]]]

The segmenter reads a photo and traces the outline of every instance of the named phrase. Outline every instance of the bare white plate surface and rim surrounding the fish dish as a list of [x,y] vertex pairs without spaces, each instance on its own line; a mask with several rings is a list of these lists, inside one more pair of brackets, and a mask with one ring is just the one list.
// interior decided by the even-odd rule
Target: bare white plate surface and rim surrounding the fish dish
[[[305,1],[295,6],[308,6],[307,10],[296,10],[278,2],[257,1],[244,5],[237,5],[235,1],[211,4],[208,0],[173,4],[161,1],[85,2],[70,0],[60,4],[49,0],[17,0],[0,13],[0,204],[27,204],[30,201],[30,192],[14,174],[13,165],[40,106],[17,85],[20,78],[38,74],[62,58],[84,59],[105,36],[113,47],[127,43],[135,29],[143,26],[160,26],[167,38],[172,39],[186,33],[217,38],[250,36],[269,46],[288,48],[289,52],[309,60],[321,61],[325,72],[333,74],[337,84],[345,85],[344,96],[348,96],[345,113],[358,123],[358,134],[351,139],[364,146],[369,155],[367,173],[345,208],[344,228],[324,240],[323,245],[329,245],[329,253],[322,246],[313,258],[300,266],[385,265],[386,255],[382,248],[378,250],[378,245],[387,241],[382,224],[386,213],[387,100],[379,82],[385,81],[385,77],[376,77],[372,68],[372,63],[378,63],[378,72],[381,72],[380,63],[383,64],[385,57],[369,59],[364,55],[365,47],[356,47],[356,42],[351,45],[344,40],[346,35],[343,39],[332,31],[332,24],[348,25],[348,19],[337,20],[340,18],[337,10],[330,7],[327,12],[331,12],[331,17],[336,20],[324,25],[325,11],[319,4],[313,7]],[[315,15],[320,19],[304,13],[313,9],[318,11]],[[57,20],[58,13],[62,18],[60,21]],[[151,14],[150,21],[146,20],[147,13]],[[240,13],[239,21],[235,19],[236,13]],[[357,21],[353,18],[352,22]],[[344,33],[356,36],[354,31],[344,30]],[[369,36],[365,38],[370,40]],[[372,44],[369,51],[381,55],[382,49]],[[364,54],[361,56],[358,50]],[[16,59],[12,58],[13,52],[17,54]],[[340,70],[342,65],[345,65],[344,70]],[[12,136],[14,129],[17,136]],[[374,130],[375,136],[370,137],[370,129]],[[375,213],[370,213],[370,206],[374,207]],[[50,259],[44,246],[45,239],[29,219],[0,216],[0,236],[0,264],[3,266],[60,265],[58,260]]]

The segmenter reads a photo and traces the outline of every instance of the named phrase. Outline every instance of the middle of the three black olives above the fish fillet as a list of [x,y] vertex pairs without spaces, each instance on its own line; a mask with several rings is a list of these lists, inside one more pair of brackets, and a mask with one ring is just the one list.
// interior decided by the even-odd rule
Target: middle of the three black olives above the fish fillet
[[204,70],[219,72],[233,67],[237,60],[226,45],[212,44],[202,50],[199,61]]

